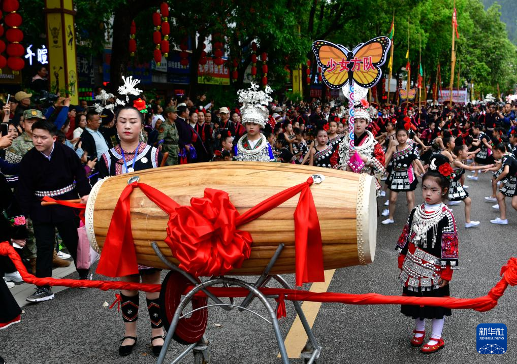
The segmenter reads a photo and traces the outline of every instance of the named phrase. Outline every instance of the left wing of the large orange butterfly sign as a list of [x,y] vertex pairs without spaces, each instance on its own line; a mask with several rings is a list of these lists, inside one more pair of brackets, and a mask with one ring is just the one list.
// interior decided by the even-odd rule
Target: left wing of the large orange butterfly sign
[[332,89],[340,89],[348,81],[348,72],[339,71],[340,65],[330,67],[333,62],[340,62],[341,59],[347,59],[345,52],[348,50],[341,49],[336,44],[325,40],[316,40],[312,43],[312,51],[316,55],[318,66],[323,69],[322,78],[328,87]]

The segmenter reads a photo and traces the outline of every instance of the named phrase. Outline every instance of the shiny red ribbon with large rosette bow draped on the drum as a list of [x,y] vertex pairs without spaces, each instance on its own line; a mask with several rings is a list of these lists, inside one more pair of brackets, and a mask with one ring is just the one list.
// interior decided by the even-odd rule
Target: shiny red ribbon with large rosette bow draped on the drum
[[324,282],[322,237],[310,190],[312,183],[309,177],[306,182],[271,196],[242,215],[224,191],[207,188],[203,198],[192,198],[191,206],[181,206],[149,185],[132,183],[122,191],[113,211],[116,218],[112,217],[110,222],[97,272],[108,277],[138,273],[129,199],[137,187],[169,214],[165,242],[180,268],[196,277],[224,275],[240,267],[250,255],[252,238],[248,232],[236,228],[300,193],[294,212],[296,285]]

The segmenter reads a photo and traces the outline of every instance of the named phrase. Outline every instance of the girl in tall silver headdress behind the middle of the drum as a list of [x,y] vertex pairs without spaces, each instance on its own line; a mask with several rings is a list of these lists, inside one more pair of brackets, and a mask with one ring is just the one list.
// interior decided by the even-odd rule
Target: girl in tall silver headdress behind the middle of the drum
[[234,147],[234,159],[251,162],[276,162],[271,145],[261,129],[267,121],[268,112],[265,105],[272,101],[269,94],[271,87],[266,86],[265,92],[258,89],[254,83],[248,89],[239,90],[239,102],[242,125],[246,127],[246,134],[238,140]]

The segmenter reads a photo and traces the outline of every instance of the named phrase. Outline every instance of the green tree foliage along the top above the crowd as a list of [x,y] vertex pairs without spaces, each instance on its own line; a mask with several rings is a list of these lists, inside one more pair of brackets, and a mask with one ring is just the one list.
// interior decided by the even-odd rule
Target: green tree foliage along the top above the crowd
[[[499,2],[506,9],[503,18],[508,18],[514,11],[508,4],[514,1]],[[78,12],[75,20],[80,47],[100,54],[106,39],[113,37],[111,81],[114,88],[119,83],[120,74],[131,62],[127,47],[131,20],[136,22],[139,46],[133,62],[148,62],[152,58],[154,29],[151,13],[160,3],[160,0],[74,1]],[[456,40],[458,63],[454,86],[460,69],[461,84],[472,81],[483,93],[494,92],[497,84],[501,90],[513,87],[517,81],[514,75],[516,48],[508,38],[505,23],[501,21],[501,6],[493,4],[485,10],[483,3],[490,5],[493,3],[491,0],[457,0],[455,3],[460,38]],[[205,39],[213,35],[220,34],[219,40],[225,43],[230,72],[234,69],[233,59],[238,60],[238,78],[232,82],[235,88],[243,85],[245,72],[251,65],[251,42],[256,41],[256,82],[260,83],[263,77],[260,55],[266,52],[268,83],[280,89],[287,81],[288,69],[302,65],[305,78],[308,59],[311,60],[311,81],[314,81],[317,74],[311,51],[314,40],[325,39],[353,48],[377,35],[387,35],[393,14],[393,76],[406,75],[405,54],[409,38],[412,69],[418,69],[421,42],[425,81],[431,78],[431,82],[435,82],[439,63],[442,87],[449,86],[453,0],[217,0],[204,2],[202,6],[192,1],[169,1],[169,6],[171,50],[185,38],[189,38],[194,46],[190,64],[191,94],[201,90],[197,85],[197,66]],[[37,43],[44,38],[43,7],[43,0],[20,0],[24,42]],[[413,82],[416,73],[413,72]]]

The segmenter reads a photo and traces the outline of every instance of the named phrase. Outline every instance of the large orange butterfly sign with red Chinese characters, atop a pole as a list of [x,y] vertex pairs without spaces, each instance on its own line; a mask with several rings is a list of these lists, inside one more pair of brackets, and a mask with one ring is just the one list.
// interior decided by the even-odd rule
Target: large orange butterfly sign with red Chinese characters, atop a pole
[[355,81],[361,87],[371,88],[382,77],[381,66],[386,62],[386,55],[391,46],[388,37],[376,37],[366,43],[360,43],[352,51],[341,44],[326,40],[312,43],[318,66],[322,71],[323,81],[331,89],[340,89],[346,83]]

